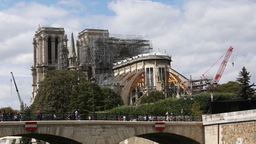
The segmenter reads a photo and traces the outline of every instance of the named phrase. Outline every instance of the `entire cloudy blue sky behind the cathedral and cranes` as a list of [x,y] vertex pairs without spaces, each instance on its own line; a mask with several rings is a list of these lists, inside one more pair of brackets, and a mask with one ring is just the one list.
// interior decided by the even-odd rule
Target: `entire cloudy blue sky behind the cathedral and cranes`
[[[255,11],[252,0],[0,0],[0,107],[19,107],[11,71],[22,99],[30,102],[31,43],[39,24],[65,28],[68,39],[85,28],[148,36],[153,50],[166,51],[172,68],[188,78],[199,78],[232,46],[220,84],[235,81],[242,66],[256,82]],[[215,76],[220,62],[207,75]]]

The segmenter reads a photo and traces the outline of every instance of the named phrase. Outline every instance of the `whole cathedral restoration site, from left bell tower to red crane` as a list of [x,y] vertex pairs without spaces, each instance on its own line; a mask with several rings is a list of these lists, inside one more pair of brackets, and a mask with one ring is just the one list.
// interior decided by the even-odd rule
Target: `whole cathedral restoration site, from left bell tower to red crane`
[[139,104],[140,98],[152,90],[162,91],[166,97],[192,95],[217,85],[233,50],[229,47],[223,54],[215,78],[205,76],[207,70],[193,79],[171,68],[169,54],[152,52],[151,40],[145,36],[85,29],[78,34],[76,47],[73,34],[69,48],[67,41],[64,28],[39,27],[36,31],[32,98],[43,76],[53,69],[84,71],[88,81],[95,78],[98,85],[116,89],[127,105]]

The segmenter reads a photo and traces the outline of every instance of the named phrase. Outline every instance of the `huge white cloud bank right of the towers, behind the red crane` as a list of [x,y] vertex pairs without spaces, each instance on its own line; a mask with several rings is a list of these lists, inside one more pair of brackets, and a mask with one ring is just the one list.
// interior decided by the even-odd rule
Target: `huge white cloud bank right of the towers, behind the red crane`
[[[188,1],[182,8],[151,1],[117,1],[109,7],[116,12],[107,24],[111,30],[151,36],[155,50],[167,50],[173,68],[187,77],[201,76],[229,46],[234,47],[231,57],[235,59],[256,53],[254,1]],[[220,82],[235,81],[242,66],[256,73],[249,64],[254,59],[227,65]],[[209,75],[216,74],[221,62]],[[251,80],[256,81],[255,77]]]

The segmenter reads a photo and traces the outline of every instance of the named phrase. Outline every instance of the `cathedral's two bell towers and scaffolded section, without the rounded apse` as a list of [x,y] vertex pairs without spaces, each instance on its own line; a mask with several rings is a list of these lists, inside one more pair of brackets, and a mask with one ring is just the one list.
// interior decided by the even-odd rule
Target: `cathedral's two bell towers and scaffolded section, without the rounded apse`
[[111,85],[107,79],[113,76],[113,63],[142,53],[151,52],[151,41],[142,36],[111,35],[108,30],[85,29],[78,40],[71,35],[70,47],[64,28],[40,27],[33,39],[34,63],[31,66],[33,92],[37,95],[39,82],[47,71],[54,69],[79,69],[88,80],[93,76],[100,85]]

